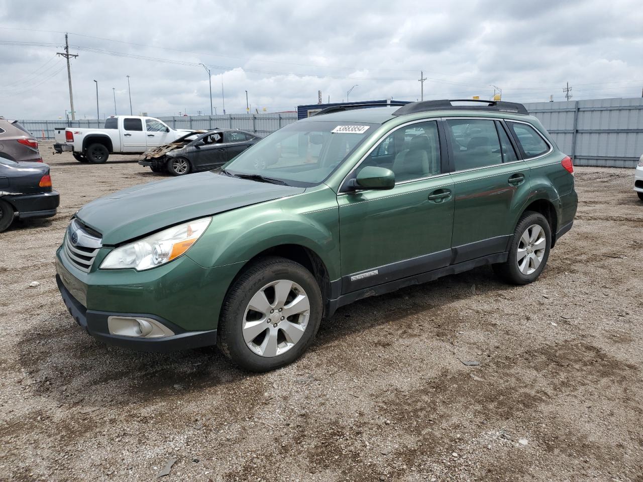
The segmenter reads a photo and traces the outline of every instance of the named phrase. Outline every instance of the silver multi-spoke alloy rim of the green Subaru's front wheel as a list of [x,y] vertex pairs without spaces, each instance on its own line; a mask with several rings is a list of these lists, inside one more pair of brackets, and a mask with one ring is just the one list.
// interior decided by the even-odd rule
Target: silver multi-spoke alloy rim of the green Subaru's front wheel
[[310,316],[310,301],[300,285],[291,280],[272,281],[246,307],[244,341],[262,357],[282,355],[302,338]]

